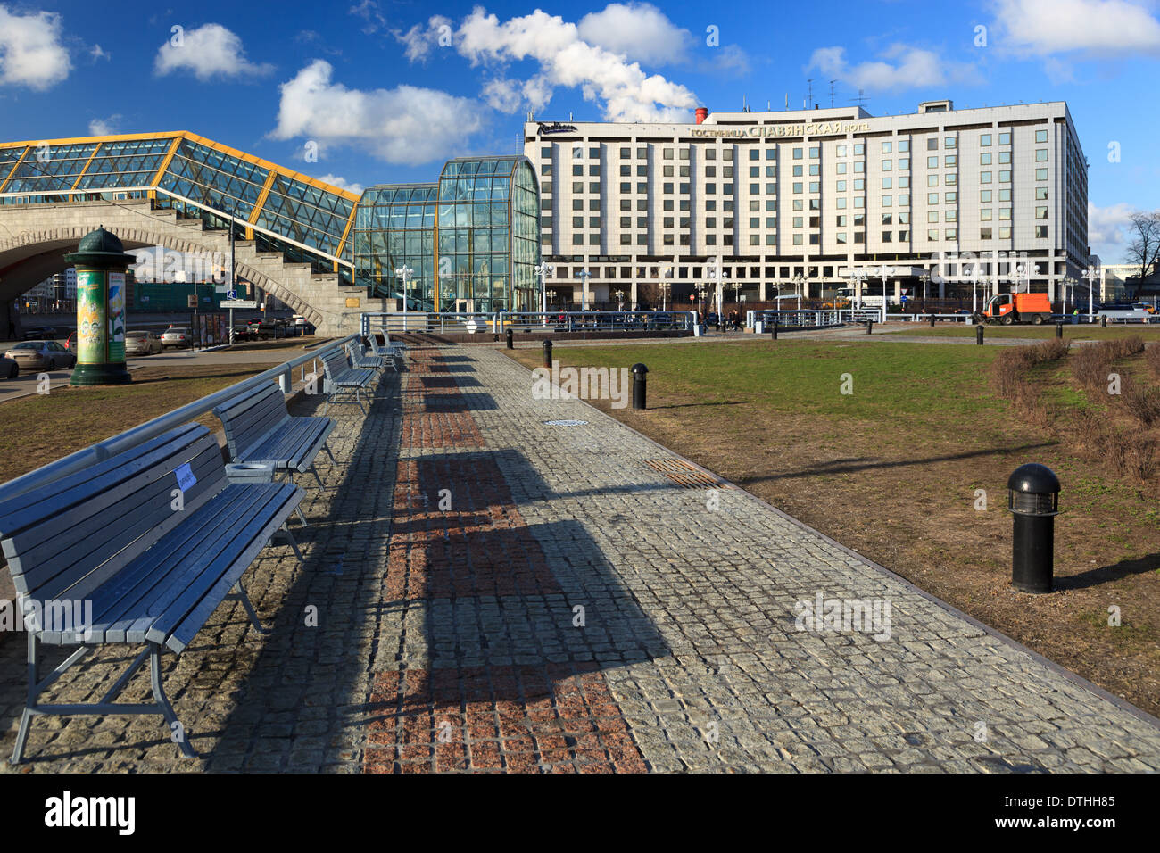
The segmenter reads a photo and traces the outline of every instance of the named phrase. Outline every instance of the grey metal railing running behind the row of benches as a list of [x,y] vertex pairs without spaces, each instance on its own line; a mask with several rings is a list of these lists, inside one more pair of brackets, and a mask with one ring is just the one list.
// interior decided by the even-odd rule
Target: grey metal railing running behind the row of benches
[[70,474],[81,471],[89,465],[94,465],[109,458],[110,456],[116,456],[123,450],[128,450],[129,448],[136,447],[137,444],[148,441],[150,439],[154,439],[174,427],[179,427],[182,424],[206,414],[208,412],[212,412],[213,407],[218,404],[231,399],[242,391],[258,388],[264,382],[273,382],[277,379],[283,392],[289,392],[292,383],[291,371],[293,368],[299,364],[305,364],[307,361],[317,360],[321,357],[321,353],[329,352],[331,349],[341,350],[343,346],[355,340],[358,340],[358,335],[350,334],[340,340],[326,344],[318,347],[313,352],[295,356],[293,359],[290,359],[290,361],[276,364],[269,370],[258,374],[258,376],[251,376],[248,379],[242,379],[234,385],[224,388],[220,391],[215,391],[208,397],[202,397],[193,403],[187,403],[181,406],[181,409],[175,409],[159,418],[154,418],[145,424],[135,426],[132,429],[126,429],[123,433],[114,435],[111,439],[99,441],[95,444],[65,456],[64,458],[50,462],[49,464],[42,465],[34,471],[29,471],[21,477],[16,477],[16,479],[2,483],[0,484],[0,501],[8,500],[9,498],[14,498],[19,494],[24,494],[26,492],[48,483],[55,483],[61,477],[67,477]]

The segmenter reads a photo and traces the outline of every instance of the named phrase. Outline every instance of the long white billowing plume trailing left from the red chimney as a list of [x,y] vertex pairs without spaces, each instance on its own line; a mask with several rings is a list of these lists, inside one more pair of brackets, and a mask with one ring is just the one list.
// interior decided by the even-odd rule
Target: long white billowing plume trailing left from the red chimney
[[[659,15],[651,6],[635,8],[644,9],[643,14],[654,22],[654,13]],[[607,20],[600,19],[606,23]],[[438,24],[445,22],[447,19],[433,17],[426,29],[413,27],[406,35],[397,35],[407,45],[408,58],[426,57],[437,43]],[[604,32],[607,26],[596,29]],[[654,27],[646,37],[638,38],[632,49],[655,52],[655,31]],[[622,39],[619,46],[630,42]],[[688,121],[689,113],[697,106],[696,95],[686,87],[660,74],[646,74],[638,63],[629,62],[624,55],[581,38],[577,24],[539,9],[501,23],[495,15],[476,7],[454,32],[452,43],[472,65],[495,66],[502,72],[512,63],[530,60],[536,64],[537,72],[525,80],[507,80],[501,73],[495,79],[502,82],[493,79],[485,86],[485,100],[508,111],[522,106],[539,109],[561,86],[579,88],[583,99],[600,103],[604,118],[612,122]],[[522,96],[519,103],[514,100],[516,91]]]

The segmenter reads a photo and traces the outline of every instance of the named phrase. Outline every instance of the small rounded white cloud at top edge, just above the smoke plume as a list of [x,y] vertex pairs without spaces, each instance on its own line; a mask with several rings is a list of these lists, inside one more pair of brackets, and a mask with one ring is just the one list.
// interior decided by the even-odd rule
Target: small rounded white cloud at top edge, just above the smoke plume
[[680,62],[693,35],[669,21],[650,3],[609,3],[577,23],[577,34],[588,44],[629,59],[653,65]]

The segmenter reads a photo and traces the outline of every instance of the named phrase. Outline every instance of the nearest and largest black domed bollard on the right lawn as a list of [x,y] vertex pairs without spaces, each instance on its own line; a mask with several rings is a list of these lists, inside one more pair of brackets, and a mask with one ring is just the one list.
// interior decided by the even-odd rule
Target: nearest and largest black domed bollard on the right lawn
[[1046,465],[1020,465],[1007,480],[1012,536],[1012,585],[1021,592],[1051,592],[1054,573],[1059,478]]

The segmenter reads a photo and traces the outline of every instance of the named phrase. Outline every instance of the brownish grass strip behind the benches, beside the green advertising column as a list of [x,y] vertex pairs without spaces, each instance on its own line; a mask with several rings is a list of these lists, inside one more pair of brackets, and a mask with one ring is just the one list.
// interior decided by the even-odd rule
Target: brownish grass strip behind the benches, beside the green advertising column
[[[74,388],[0,404],[0,483],[108,439],[268,369],[268,364],[143,366],[129,385]],[[198,419],[211,429],[212,414]]]

